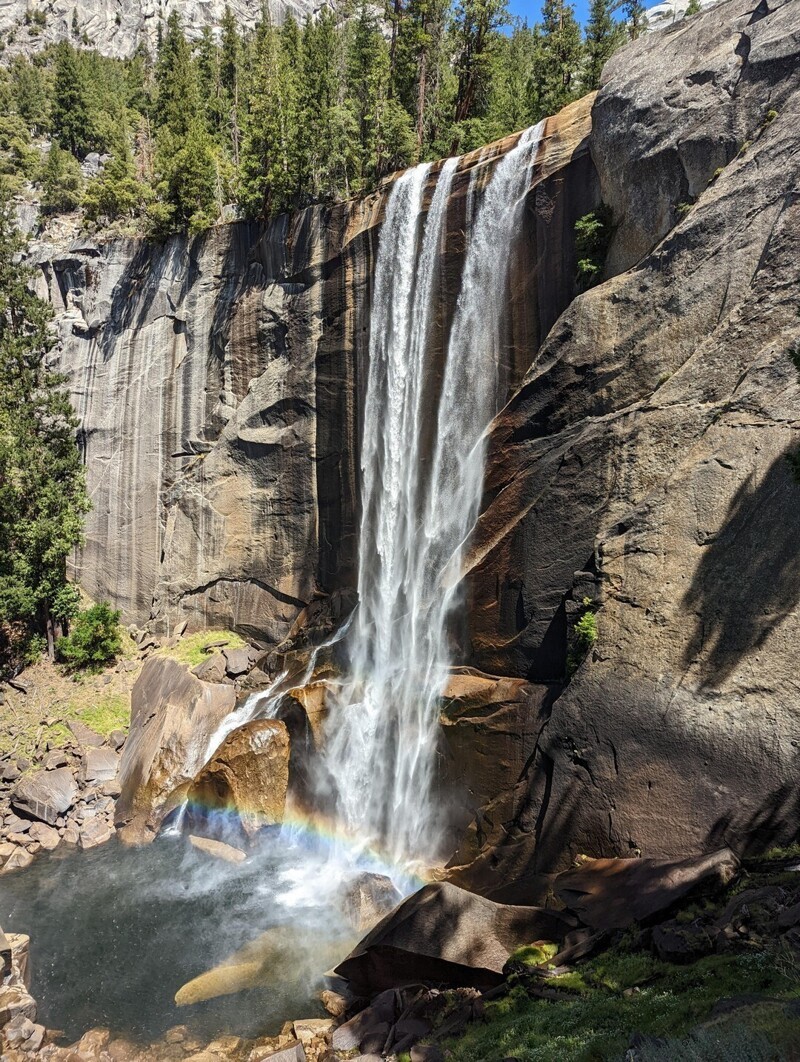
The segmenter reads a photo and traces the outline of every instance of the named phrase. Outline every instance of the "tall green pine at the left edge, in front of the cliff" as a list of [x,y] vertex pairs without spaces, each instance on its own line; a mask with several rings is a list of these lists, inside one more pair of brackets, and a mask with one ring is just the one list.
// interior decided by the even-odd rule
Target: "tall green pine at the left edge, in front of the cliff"
[[78,422],[63,377],[46,357],[49,306],[19,263],[22,241],[0,206],[0,653],[19,665],[31,634],[48,636],[75,605],[67,556],[81,543],[88,511],[75,445]]

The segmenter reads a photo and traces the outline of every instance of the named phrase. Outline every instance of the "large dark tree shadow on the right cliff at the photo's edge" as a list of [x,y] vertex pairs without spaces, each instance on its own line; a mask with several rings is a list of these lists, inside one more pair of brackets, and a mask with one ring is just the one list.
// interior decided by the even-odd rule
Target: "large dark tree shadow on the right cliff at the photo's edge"
[[759,483],[751,475],[697,566],[683,605],[696,617],[684,665],[718,686],[800,601],[800,486],[782,453]]

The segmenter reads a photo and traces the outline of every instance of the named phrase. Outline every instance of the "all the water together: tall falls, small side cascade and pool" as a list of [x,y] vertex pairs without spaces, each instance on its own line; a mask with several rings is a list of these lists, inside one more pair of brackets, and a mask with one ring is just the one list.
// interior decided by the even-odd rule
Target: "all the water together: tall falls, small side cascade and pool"
[[[333,639],[346,645],[350,665],[331,686],[313,772],[312,796],[331,828],[323,837],[286,823],[232,866],[187,845],[178,813],[171,836],[146,849],[56,850],[5,878],[0,924],[33,936],[33,991],[49,1026],[76,1037],[105,1025],[147,1040],[184,1023],[207,1039],[271,1033],[287,1017],[313,1016],[324,971],[360,936],[344,917],[343,886],[367,869],[410,892],[419,885],[411,868],[441,855],[432,795],[448,627],[480,504],[484,432],[504,393],[510,255],[541,135],[541,124],[522,134],[486,187],[481,167],[471,175],[461,289],[437,395],[429,335],[459,160],[438,175],[430,164],[407,171],[389,198],[370,323],[359,606]],[[279,675],[237,708],[208,755],[236,727],[273,715],[287,684],[311,681],[314,658],[305,674]],[[280,926],[285,953],[263,986],[175,1007],[181,986]]]

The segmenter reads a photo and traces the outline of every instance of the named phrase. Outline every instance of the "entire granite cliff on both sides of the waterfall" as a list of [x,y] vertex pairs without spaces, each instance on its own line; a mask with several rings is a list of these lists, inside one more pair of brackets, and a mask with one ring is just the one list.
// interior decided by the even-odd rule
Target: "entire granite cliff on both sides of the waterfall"
[[[507,678],[455,675],[443,719],[452,873],[497,898],[581,851],[796,834],[799,119],[800,3],[728,0],[548,122],[462,641]],[[449,304],[471,182],[513,142],[459,165]],[[37,249],[95,501],[78,572],[126,618],[270,646],[352,589],[387,191],[160,249]],[[576,297],[574,222],[600,201],[605,279]],[[566,683],[586,600],[598,640]]]

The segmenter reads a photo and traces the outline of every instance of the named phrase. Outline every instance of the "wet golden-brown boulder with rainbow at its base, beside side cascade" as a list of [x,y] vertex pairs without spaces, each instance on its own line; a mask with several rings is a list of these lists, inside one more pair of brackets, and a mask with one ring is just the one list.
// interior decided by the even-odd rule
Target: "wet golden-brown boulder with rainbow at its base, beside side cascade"
[[252,837],[282,822],[289,786],[289,734],[277,719],[256,719],[225,738],[188,790],[193,828],[203,820],[240,825]]

